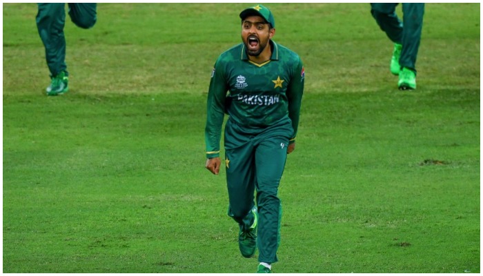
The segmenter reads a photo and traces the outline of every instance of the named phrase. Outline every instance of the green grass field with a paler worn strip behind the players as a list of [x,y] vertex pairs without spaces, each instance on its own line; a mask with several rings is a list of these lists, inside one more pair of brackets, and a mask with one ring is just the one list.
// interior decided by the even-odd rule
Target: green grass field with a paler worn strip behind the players
[[[3,273],[255,272],[204,168],[246,6],[101,3],[46,97],[37,6],[3,3]],[[480,3],[426,5],[413,92],[368,4],[266,6],[306,70],[274,271],[480,273]]]

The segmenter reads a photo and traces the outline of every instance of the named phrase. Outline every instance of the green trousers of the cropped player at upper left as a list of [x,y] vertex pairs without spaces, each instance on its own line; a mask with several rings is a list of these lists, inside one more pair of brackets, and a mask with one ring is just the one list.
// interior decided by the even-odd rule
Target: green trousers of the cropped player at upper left
[[[51,76],[67,72],[66,38],[63,26],[66,23],[65,3],[38,3],[37,30],[46,48],[47,66]],[[88,29],[97,21],[96,3],[68,3],[69,16],[80,28]]]

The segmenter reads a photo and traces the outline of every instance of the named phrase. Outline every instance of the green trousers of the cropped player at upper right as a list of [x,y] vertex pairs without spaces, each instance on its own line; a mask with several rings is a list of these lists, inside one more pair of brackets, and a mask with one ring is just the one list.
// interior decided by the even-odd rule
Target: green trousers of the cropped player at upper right
[[400,66],[416,72],[424,3],[402,3],[403,21],[395,13],[397,3],[371,3],[371,14],[391,41],[402,44]]

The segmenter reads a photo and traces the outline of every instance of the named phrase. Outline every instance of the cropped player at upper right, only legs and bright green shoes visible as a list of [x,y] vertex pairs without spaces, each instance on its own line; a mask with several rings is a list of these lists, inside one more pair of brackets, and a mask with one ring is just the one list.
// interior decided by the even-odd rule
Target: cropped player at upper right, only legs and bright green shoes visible
[[402,3],[403,21],[397,17],[398,3],[371,3],[377,25],[394,43],[391,73],[399,75],[400,90],[416,89],[416,58],[420,48],[424,3]]

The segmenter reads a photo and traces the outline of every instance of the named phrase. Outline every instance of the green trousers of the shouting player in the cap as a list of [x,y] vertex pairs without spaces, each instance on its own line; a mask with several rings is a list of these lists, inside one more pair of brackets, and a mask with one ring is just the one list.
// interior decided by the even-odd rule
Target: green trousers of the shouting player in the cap
[[248,230],[253,224],[250,210],[255,205],[256,190],[258,259],[268,264],[278,260],[282,204],[277,194],[292,134],[288,118],[258,130],[247,130],[230,119],[225,126],[228,215],[238,222],[241,230]]

